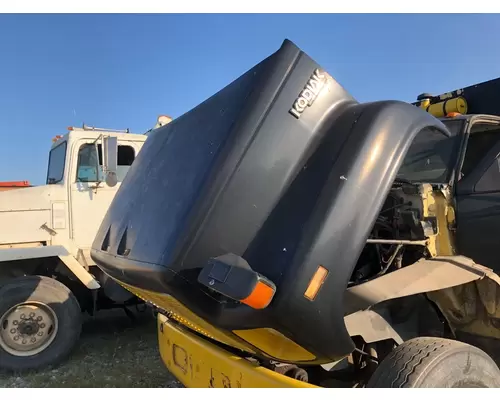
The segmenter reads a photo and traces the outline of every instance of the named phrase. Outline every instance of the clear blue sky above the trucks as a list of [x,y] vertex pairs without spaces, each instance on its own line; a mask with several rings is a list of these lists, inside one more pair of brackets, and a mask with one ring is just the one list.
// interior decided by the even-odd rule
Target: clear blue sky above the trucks
[[0,15],[0,181],[42,184],[68,125],[143,133],[291,39],[360,101],[500,76],[498,15]]

